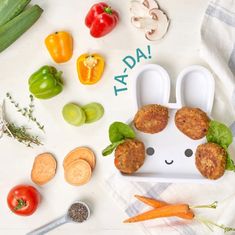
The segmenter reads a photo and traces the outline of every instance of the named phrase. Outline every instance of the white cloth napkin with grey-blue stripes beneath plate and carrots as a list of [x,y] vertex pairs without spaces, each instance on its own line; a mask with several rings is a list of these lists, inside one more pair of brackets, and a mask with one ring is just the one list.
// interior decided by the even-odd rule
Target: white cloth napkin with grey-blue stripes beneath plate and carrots
[[[234,30],[235,1],[211,1],[202,24],[201,52],[202,57],[218,76],[213,116],[227,123],[231,123],[234,117],[231,102],[235,85]],[[209,204],[218,200],[219,206],[216,210],[201,209],[197,210],[196,214],[235,227],[234,181],[233,172],[226,172],[223,178],[214,184],[129,182],[121,179],[118,174],[113,174],[106,179],[105,186],[121,208],[125,210],[127,217],[148,209],[148,206],[134,198],[135,194],[158,198],[170,203],[187,202],[191,205]],[[196,220],[192,222],[177,218],[152,220],[141,223],[140,226],[148,235],[223,234],[222,230],[216,228],[214,232],[210,232]]]

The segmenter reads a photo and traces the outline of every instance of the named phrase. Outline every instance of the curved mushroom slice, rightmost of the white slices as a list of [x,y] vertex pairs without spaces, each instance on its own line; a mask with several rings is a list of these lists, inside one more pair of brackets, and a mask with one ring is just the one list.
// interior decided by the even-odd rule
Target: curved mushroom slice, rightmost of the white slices
[[147,31],[145,37],[150,41],[156,41],[164,37],[169,27],[169,20],[166,14],[159,9],[151,9],[149,14],[157,22],[157,27]]

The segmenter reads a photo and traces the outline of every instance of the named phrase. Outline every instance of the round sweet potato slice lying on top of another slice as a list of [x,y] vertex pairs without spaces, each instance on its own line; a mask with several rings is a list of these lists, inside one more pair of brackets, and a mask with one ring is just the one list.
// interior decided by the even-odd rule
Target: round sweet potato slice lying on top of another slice
[[65,180],[74,186],[86,184],[90,180],[91,174],[91,166],[82,159],[71,162],[64,171]]

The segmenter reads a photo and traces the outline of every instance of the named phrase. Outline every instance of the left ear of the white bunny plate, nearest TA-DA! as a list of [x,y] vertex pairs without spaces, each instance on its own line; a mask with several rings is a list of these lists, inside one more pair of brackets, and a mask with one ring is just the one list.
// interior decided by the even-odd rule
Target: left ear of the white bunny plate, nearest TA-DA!
[[134,91],[137,107],[147,104],[166,105],[170,98],[170,78],[157,64],[142,66],[134,75]]

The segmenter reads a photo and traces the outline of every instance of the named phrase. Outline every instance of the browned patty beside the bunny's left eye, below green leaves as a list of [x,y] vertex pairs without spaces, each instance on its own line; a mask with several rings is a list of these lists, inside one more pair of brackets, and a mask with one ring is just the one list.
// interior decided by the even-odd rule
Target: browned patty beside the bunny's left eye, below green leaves
[[115,150],[114,164],[123,173],[136,172],[145,160],[145,147],[139,140],[125,140]]

